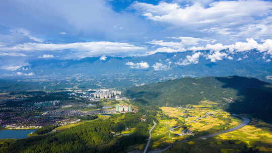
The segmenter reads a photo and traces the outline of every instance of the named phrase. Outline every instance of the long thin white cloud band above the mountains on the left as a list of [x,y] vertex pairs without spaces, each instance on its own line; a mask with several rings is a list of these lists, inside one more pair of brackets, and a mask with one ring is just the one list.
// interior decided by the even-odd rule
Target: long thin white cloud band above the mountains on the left
[[45,43],[24,43],[12,47],[0,47],[0,50],[9,51],[56,51],[73,49],[73,51],[85,52],[82,55],[101,55],[124,53],[129,51],[145,50],[146,48],[135,46],[129,43],[107,42],[107,41],[92,41],[78,42],[69,44],[45,44]]

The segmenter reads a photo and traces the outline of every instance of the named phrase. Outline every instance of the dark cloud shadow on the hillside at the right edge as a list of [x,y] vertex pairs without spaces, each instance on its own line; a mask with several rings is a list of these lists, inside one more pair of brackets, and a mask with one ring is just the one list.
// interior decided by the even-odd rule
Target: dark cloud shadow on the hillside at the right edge
[[272,86],[269,83],[244,77],[216,77],[224,85],[222,88],[232,88],[237,91],[237,99],[228,105],[227,111],[242,114],[272,122]]

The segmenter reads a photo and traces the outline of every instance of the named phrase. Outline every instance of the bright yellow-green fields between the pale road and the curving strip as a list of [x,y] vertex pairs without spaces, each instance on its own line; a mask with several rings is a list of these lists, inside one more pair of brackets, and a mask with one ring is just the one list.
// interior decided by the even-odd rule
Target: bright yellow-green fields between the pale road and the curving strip
[[[160,145],[173,143],[176,140],[188,137],[188,135],[176,135],[182,133],[184,130],[183,126],[193,131],[193,133],[213,133],[231,128],[241,122],[241,120],[232,117],[228,112],[212,110],[211,108],[214,105],[217,105],[217,103],[202,101],[199,105],[189,105],[186,108],[161,107],[162,113],[157,115],[159,123],[152,134],[154,137],[152,147],[160,147]],[[212,113],[212,115],[207,115],[207,113]],[[166,119],[163,114],[170,118]],[[180,127],[170,130],[177,126]]]

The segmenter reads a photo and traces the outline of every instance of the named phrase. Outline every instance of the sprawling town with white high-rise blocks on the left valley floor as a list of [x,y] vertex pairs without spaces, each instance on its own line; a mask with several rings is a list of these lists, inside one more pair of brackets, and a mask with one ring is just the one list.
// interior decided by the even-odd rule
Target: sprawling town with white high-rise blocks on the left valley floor
[[7,129],[68,125],[80,122],[80,116],[137,112],[137,108],[128,104],[129,99],[121,97],[121,91],[115,89],[2,93],[0,97],[0,126]]

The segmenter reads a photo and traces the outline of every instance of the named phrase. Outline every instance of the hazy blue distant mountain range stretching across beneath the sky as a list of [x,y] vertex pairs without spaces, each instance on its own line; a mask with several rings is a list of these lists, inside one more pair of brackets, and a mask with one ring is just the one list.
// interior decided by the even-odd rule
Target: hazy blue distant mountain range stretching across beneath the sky
[[[201,51],[209,52],[209,51]],[[206,53],[206,54],[207,54]],[[262,59],[259,52],[250,51],[237,52],[232,55],[232,59],[222,59],[211,62],[206,57],[200,56],[198,62],[180,64],[191,52],[177,53],[156,53],[149,56],[131,57],[87,57],[83,59],[36,59],[29,61],[29,66],[24,66],[16,71],[0,69],[2,78],[37,78],[48,75],[63,77],[65,75],[84,74],[84,75],[103,75],[107,73],[132,73],[141,78],[142,83],[148,80],[152,82],[178,79],[182,77],[204,77],[204,76],[229,76],[239,75],[243,77],[254,77],[263,81],[271,81],[272,64]],[[133,62],[134,66],[126,64]],[[149,67],[137,67],[137,63],[147,62]],[[16,75],[16,72],[20,76]],[[35,75],[24,75],[33,72]],[[14,75],[12,75],[14,74]],[[8,76],[8,77],[7,77]],[[152,76],[152,77],[147,77]],[[155,77],[155,78],[154,78]],[[166,78],[165,78],[166,77]],[[141,83],[141,82],[140,82]],[[131,82],[125,84],[127,87]]]

